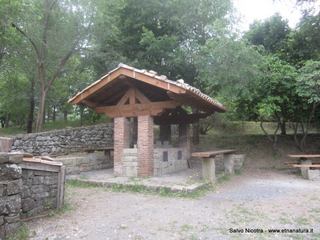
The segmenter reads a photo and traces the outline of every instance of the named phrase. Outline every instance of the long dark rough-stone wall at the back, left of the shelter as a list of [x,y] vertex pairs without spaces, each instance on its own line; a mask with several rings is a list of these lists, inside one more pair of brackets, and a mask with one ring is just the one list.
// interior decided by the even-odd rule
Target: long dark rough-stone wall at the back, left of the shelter
[[[3,142],[0,139],[0,143]],[[21,134],[12,140],[12,151],[34,155],[62,155],[113,147],[113,124]],[[0,144],[1,146],[1,144]]]

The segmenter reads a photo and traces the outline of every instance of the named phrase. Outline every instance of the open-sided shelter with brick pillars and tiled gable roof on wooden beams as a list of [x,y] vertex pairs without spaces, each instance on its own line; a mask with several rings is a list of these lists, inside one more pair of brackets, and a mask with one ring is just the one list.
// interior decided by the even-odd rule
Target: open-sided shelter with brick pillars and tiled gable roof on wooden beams
[[[69,100],[114,121],[114,175],[161,176],[188,168],[190,124],[224,106],[182,79],[125,64]],[[195,111],[196,110],[196,111]],[[173,139],[176,125],[177,139]]]

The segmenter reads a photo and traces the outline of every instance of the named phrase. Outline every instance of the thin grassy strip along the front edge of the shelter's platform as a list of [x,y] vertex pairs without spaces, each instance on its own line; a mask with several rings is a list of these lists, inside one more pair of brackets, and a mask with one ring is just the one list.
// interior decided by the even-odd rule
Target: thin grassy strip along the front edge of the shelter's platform
[[132,192],[132,193],[142,193],[142,194],[152,194],[159,195],[162,197],[181,197],[181,198],[199,198],[204,196],[209,191],[213,191],[212,185],[204,185],[196,189],[195,191],[177,191],[173,192],[170,188],[161,187],[158,189],[151,189],[144,185],[133,183],[131,185],[123,184],[112,184],[111,186],[105,186],[100,183],[88,183],[81,180],[67,180],[66,184],[71,188],[101,188],[112,192]]

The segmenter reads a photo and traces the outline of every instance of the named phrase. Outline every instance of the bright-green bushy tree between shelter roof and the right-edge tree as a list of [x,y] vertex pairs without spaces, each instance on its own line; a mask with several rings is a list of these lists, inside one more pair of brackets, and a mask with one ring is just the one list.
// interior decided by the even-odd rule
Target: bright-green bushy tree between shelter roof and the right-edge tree
[[[235,110],[244,120],[260,121],[261,129],[275,146],[278,131],[286,134],[286,123],[295,113],[297,73],[293,66],[274,56],[265,57],[261,73],[247,85],[248,91],[238,95]],[[272,135],[265,130],[264,122],[277,123]]]

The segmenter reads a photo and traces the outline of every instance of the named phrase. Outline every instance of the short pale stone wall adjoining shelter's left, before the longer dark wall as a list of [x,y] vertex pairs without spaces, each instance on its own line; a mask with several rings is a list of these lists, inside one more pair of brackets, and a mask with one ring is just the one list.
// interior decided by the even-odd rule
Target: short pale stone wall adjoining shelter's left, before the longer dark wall
[[62,162],[66,174],[79,174],[91,170],[113,167],[113,151],[95,151],[59,156],[55,161]]

